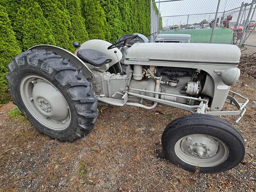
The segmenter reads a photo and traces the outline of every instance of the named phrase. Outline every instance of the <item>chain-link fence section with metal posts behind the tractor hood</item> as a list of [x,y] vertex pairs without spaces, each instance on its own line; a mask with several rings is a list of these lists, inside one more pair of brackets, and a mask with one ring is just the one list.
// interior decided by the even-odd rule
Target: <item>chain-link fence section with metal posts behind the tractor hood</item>
[[191,42],[236,44],[256,52],[255,0],[155,0],[151,36],[190,34]]

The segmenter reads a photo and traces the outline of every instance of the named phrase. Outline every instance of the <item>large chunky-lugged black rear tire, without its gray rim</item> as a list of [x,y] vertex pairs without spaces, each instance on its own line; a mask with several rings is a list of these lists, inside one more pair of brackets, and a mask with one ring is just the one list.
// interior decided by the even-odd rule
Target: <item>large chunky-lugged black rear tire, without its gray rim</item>
[[[98,100],[92,92],[92,84],[84,76],[76,76],[77,68],[69,59],[45,50],[28,50],[16,56],[7,67],[6,80],[13,103],[40,132],[60,141],[74,141],[92,130],[98,117]],[[24,105],[20,82],[33,74],[46,78],[66,99],[71,113],[71,122],[66,129],[53,130],[43,126]]]

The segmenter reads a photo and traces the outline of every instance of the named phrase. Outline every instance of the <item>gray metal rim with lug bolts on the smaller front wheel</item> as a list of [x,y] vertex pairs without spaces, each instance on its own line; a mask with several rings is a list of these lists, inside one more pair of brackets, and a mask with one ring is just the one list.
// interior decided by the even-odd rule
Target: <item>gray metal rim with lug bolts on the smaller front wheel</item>
[[182,161],[199,167],[216,166],[228,158],[228,148],[222,141],[203,134],[181,138],[174,150]]

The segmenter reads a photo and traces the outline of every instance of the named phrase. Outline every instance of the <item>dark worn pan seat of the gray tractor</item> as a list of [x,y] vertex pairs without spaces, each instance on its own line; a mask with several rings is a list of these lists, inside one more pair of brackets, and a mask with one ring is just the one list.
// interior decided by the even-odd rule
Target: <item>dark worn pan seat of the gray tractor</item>
[[97,67],[112,62],[112,59],[106,58],[104,53],[94,49],[81,49],[77,52],[77,56],[84,62]]

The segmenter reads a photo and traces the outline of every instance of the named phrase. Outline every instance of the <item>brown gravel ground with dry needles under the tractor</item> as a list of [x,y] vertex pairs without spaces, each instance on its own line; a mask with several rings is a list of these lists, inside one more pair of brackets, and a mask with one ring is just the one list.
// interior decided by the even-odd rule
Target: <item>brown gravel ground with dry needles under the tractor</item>
[[[241,76],[232,90],[248,97],[244,118],[223,117],[242,134],[244,161],[218,174],[188,172],[163,154],[166,125],[188,114],[158,106],[102,108],[94,130],[73,143],[51,140],[27,120],[11,118],[12,103],[0,108],[0,191],[256,191],[256,84]],[[228,107],[226,107],[228,108]],[[100,108],[99,108],[100,109]]]

